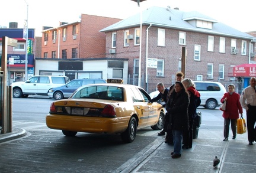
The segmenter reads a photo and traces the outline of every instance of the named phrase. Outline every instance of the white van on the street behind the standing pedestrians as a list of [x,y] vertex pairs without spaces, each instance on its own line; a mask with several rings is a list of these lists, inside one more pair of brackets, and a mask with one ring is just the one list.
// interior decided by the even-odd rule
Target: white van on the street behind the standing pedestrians
[[223,84],[215,81],[194,81],[194,84],[201,95],[200,106],[204,106],[206,109],[215,109],[222,105],[220,99],[226,93]]

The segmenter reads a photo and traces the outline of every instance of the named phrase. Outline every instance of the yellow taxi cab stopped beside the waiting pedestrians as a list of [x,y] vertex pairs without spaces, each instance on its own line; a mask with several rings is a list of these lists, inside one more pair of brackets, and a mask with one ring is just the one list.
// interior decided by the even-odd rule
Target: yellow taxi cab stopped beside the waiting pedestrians
[[162,105],[148,103],[151,97],[145,90],[121,81],[82,86],[69,99],[56,100],[46,115],[46,125],[62,130],[66,136],[77,132],[117,133],[124,142],[133,142],[137,129],[164,128]]

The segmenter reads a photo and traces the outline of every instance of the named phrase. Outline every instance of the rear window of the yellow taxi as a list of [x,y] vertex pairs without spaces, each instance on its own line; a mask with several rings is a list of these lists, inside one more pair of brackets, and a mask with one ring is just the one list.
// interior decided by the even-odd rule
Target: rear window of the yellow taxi
[[82,87],[73,94],[73,99],[104,99],[124,101],[123,87],[117,86],[88,86]]

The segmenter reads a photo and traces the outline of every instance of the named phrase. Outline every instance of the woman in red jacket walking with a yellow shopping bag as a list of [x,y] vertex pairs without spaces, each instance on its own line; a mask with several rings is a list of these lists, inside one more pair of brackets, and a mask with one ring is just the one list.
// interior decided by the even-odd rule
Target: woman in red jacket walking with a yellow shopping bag
[[242,116],[242,106],[239,102],[240,95],[235,92],[235,85],[228,85],[228,92],[224,94],[220,102],[226,101],[226,110],[223,111],[222,116],[224,117],[224,138],[223,141],[228,141],[229,136],[229,124],[231,123],[231,129],[233,132],[233,138],[236,138],[236,123],[239,118],[239,113]]

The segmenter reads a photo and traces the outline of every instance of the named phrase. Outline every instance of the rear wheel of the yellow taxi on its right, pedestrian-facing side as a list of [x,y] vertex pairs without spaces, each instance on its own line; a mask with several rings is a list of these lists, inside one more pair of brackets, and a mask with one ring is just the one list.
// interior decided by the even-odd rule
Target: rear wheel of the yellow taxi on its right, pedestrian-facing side
[[127,129],[123,133],[121,133],[121,139],[127,143],[133,142],[136,138],[136,133],[137,133],[137,121],[135,117],[132,116],[129,121],[129,125]]

